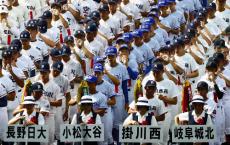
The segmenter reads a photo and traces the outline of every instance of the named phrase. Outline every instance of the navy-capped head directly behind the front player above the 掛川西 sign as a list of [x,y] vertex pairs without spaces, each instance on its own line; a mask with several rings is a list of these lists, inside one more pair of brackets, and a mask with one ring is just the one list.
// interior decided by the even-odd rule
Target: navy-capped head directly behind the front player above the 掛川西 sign
[[163,77],[163,73],[164,73],[164,65],[161,62],[156,62],[153,64],[153,76],[155,77],[155,79],[162,79]]

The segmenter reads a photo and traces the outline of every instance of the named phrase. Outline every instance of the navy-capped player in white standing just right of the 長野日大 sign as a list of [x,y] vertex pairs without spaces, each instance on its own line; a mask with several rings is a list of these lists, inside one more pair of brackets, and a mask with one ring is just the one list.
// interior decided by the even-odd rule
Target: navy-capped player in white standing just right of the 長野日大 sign
[[40,78],[39,82],[43,85],[43,95],[47,97],[50,102],[50,113],[49,113],[49,144],[54,142],[54,137],[60,142],[60,124],[63,122],[62,116],[60,115],[62,99],[60,87],[50,79],[50,66],[47,62],[43,62],[40,67]]

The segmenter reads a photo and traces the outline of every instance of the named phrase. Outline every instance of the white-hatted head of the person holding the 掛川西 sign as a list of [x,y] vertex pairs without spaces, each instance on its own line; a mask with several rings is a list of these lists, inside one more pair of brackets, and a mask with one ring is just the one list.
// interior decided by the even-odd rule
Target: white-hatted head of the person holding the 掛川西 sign
[[136,105],[137,111],[141,115],[144,115],[150,109],[149,101],[145,97],[139,97],[135,105]]

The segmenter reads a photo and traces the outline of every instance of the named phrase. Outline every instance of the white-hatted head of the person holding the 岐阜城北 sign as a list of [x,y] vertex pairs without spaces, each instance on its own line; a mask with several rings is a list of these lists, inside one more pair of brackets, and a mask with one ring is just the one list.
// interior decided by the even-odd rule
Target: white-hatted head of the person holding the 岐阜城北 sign
[[201,95],[193,96],[191,104],[196,114],[201,114],[203,112],[205,101]]

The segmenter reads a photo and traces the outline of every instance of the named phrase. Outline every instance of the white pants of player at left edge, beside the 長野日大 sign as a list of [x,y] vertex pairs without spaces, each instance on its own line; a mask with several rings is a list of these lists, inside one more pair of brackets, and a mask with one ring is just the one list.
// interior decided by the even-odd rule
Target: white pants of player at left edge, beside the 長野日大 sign
[[0,107],[0,140],[4,139],[4,134],[7,131],[8,115],[7,107]]

